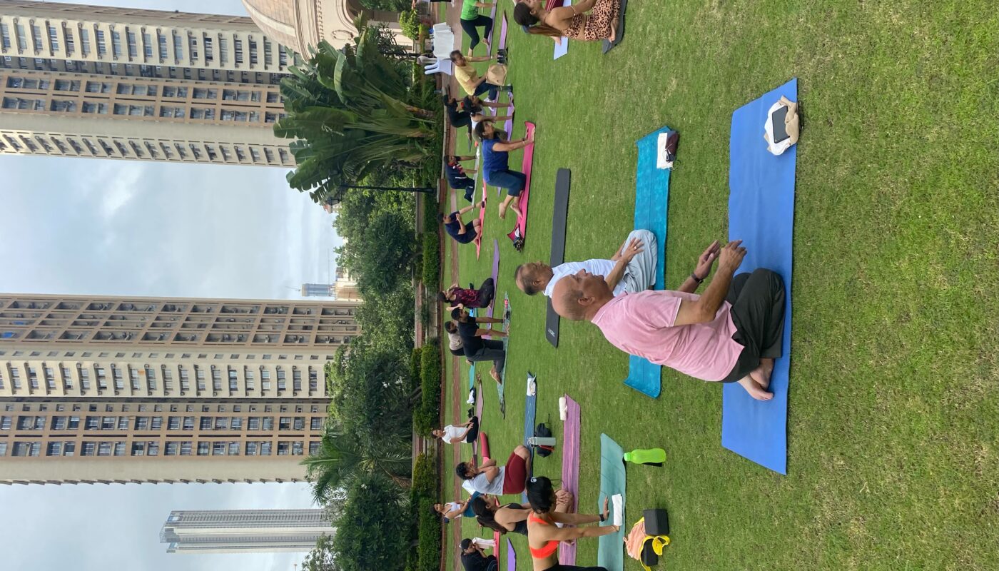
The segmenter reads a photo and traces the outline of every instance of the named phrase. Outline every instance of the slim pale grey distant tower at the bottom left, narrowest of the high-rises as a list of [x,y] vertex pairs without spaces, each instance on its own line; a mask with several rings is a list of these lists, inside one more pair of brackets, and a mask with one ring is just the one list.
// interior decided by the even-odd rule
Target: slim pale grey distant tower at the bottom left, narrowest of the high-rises
[[167,553],[311,551],[334,528],[321,509],[172,511],[160,530]]

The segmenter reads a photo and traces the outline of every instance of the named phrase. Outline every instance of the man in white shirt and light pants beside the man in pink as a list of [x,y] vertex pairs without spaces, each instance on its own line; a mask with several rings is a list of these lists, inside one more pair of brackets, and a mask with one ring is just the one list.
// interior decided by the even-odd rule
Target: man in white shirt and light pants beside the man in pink
[[551,297],[551,290],[558,280],[579,270],[586,270],[591,274],[604,276],[614,295],[625,291],[637,293],[655,285],[655,265],[658,259],[655,234],[648,230],[634,230],[627,235],[610,259],[565,262],[553,268],[544,262],[528,262],[516,267],[513,281],[527,295],[544,292],[544,295]]

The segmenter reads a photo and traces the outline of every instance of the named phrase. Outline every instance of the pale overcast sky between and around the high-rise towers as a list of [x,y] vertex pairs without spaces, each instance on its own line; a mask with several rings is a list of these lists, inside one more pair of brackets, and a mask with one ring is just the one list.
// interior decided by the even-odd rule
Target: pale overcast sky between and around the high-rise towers
[[[239,0],[87,4],[246,14]],[[300,298],[340,244],[284,169],[0,157],[0,292]],[[310,507],[304,484],[0,486],[0,567],[285,570],[303,554],[169,555],[171,510]]]

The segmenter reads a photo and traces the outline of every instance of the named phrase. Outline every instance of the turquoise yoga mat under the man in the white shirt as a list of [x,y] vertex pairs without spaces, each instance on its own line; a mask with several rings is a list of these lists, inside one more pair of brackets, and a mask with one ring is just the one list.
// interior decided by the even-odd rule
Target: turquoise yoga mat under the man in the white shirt
[[[663,127],[638,139],[638,166],[634,177],[634,228],[655,234],[659,260],[655,265],[655,289],[665,287],[666,267],[666,208],[669,202],[669,170],[655,168],[655,143],[659,133],[668,133]],[[627,378],[624,384],[652,398],[662,389],[662,367],[648,359],[628,357]]]

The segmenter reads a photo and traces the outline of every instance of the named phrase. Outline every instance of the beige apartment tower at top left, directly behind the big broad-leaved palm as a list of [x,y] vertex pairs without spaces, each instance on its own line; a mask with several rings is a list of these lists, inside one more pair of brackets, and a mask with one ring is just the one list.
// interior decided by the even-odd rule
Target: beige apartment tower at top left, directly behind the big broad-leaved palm
[[0,154],[294,167],[248,17],[0,0]]

